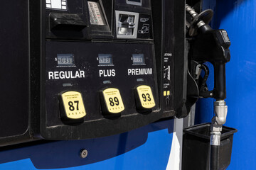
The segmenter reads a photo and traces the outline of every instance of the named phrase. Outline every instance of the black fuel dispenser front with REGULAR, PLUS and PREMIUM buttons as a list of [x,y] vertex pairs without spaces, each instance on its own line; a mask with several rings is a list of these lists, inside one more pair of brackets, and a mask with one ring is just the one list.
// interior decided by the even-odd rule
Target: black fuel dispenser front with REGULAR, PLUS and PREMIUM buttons
[[103,137],[186,116],[185,1],[6,1],[0,8],[11,6],[23,22],[1,28],[15,32],[1,46],[12,59],[2,57],[1,71],[19,65],[9,74],[18,82],[1,78],[16,88],[1,88],[10,97],[1,98],[0,124],[9,128],[1,128],[1,146]]

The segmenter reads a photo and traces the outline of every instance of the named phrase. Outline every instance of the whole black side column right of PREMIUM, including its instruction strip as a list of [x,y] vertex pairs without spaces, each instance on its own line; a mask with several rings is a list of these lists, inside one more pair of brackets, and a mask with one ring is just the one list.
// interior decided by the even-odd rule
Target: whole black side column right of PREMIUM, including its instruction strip
[[179,118],[186,116],[184,6],[185,1],[152,0],[160,106]]

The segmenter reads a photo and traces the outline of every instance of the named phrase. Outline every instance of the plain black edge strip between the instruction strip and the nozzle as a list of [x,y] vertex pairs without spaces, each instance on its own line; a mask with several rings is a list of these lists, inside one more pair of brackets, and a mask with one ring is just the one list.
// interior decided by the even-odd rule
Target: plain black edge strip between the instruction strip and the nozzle
[[177,118],[188,115],[186,111],[186,84],[188,70],[188,56],[185,50],[185,1],[174,1],[174,55],[175,55],[175,82],[174,82],[174,111]]

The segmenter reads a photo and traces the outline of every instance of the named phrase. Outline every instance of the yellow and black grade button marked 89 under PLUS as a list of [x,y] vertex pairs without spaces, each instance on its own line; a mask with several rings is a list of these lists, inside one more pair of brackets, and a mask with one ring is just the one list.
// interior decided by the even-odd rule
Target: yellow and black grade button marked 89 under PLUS
[[100,91],[102,113],[110,117],[119,116],[124,111],[124,103],[118,89],[108,88]]

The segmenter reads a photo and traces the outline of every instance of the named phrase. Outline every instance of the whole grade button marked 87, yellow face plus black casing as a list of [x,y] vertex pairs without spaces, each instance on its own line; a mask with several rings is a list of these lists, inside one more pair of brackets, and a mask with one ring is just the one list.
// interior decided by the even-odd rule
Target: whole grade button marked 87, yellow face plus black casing
[[83,121],[85,117],[85,106],[82,101],[82,94],[78,91],[67,91],[60,94],[60,117],[62,120]]

